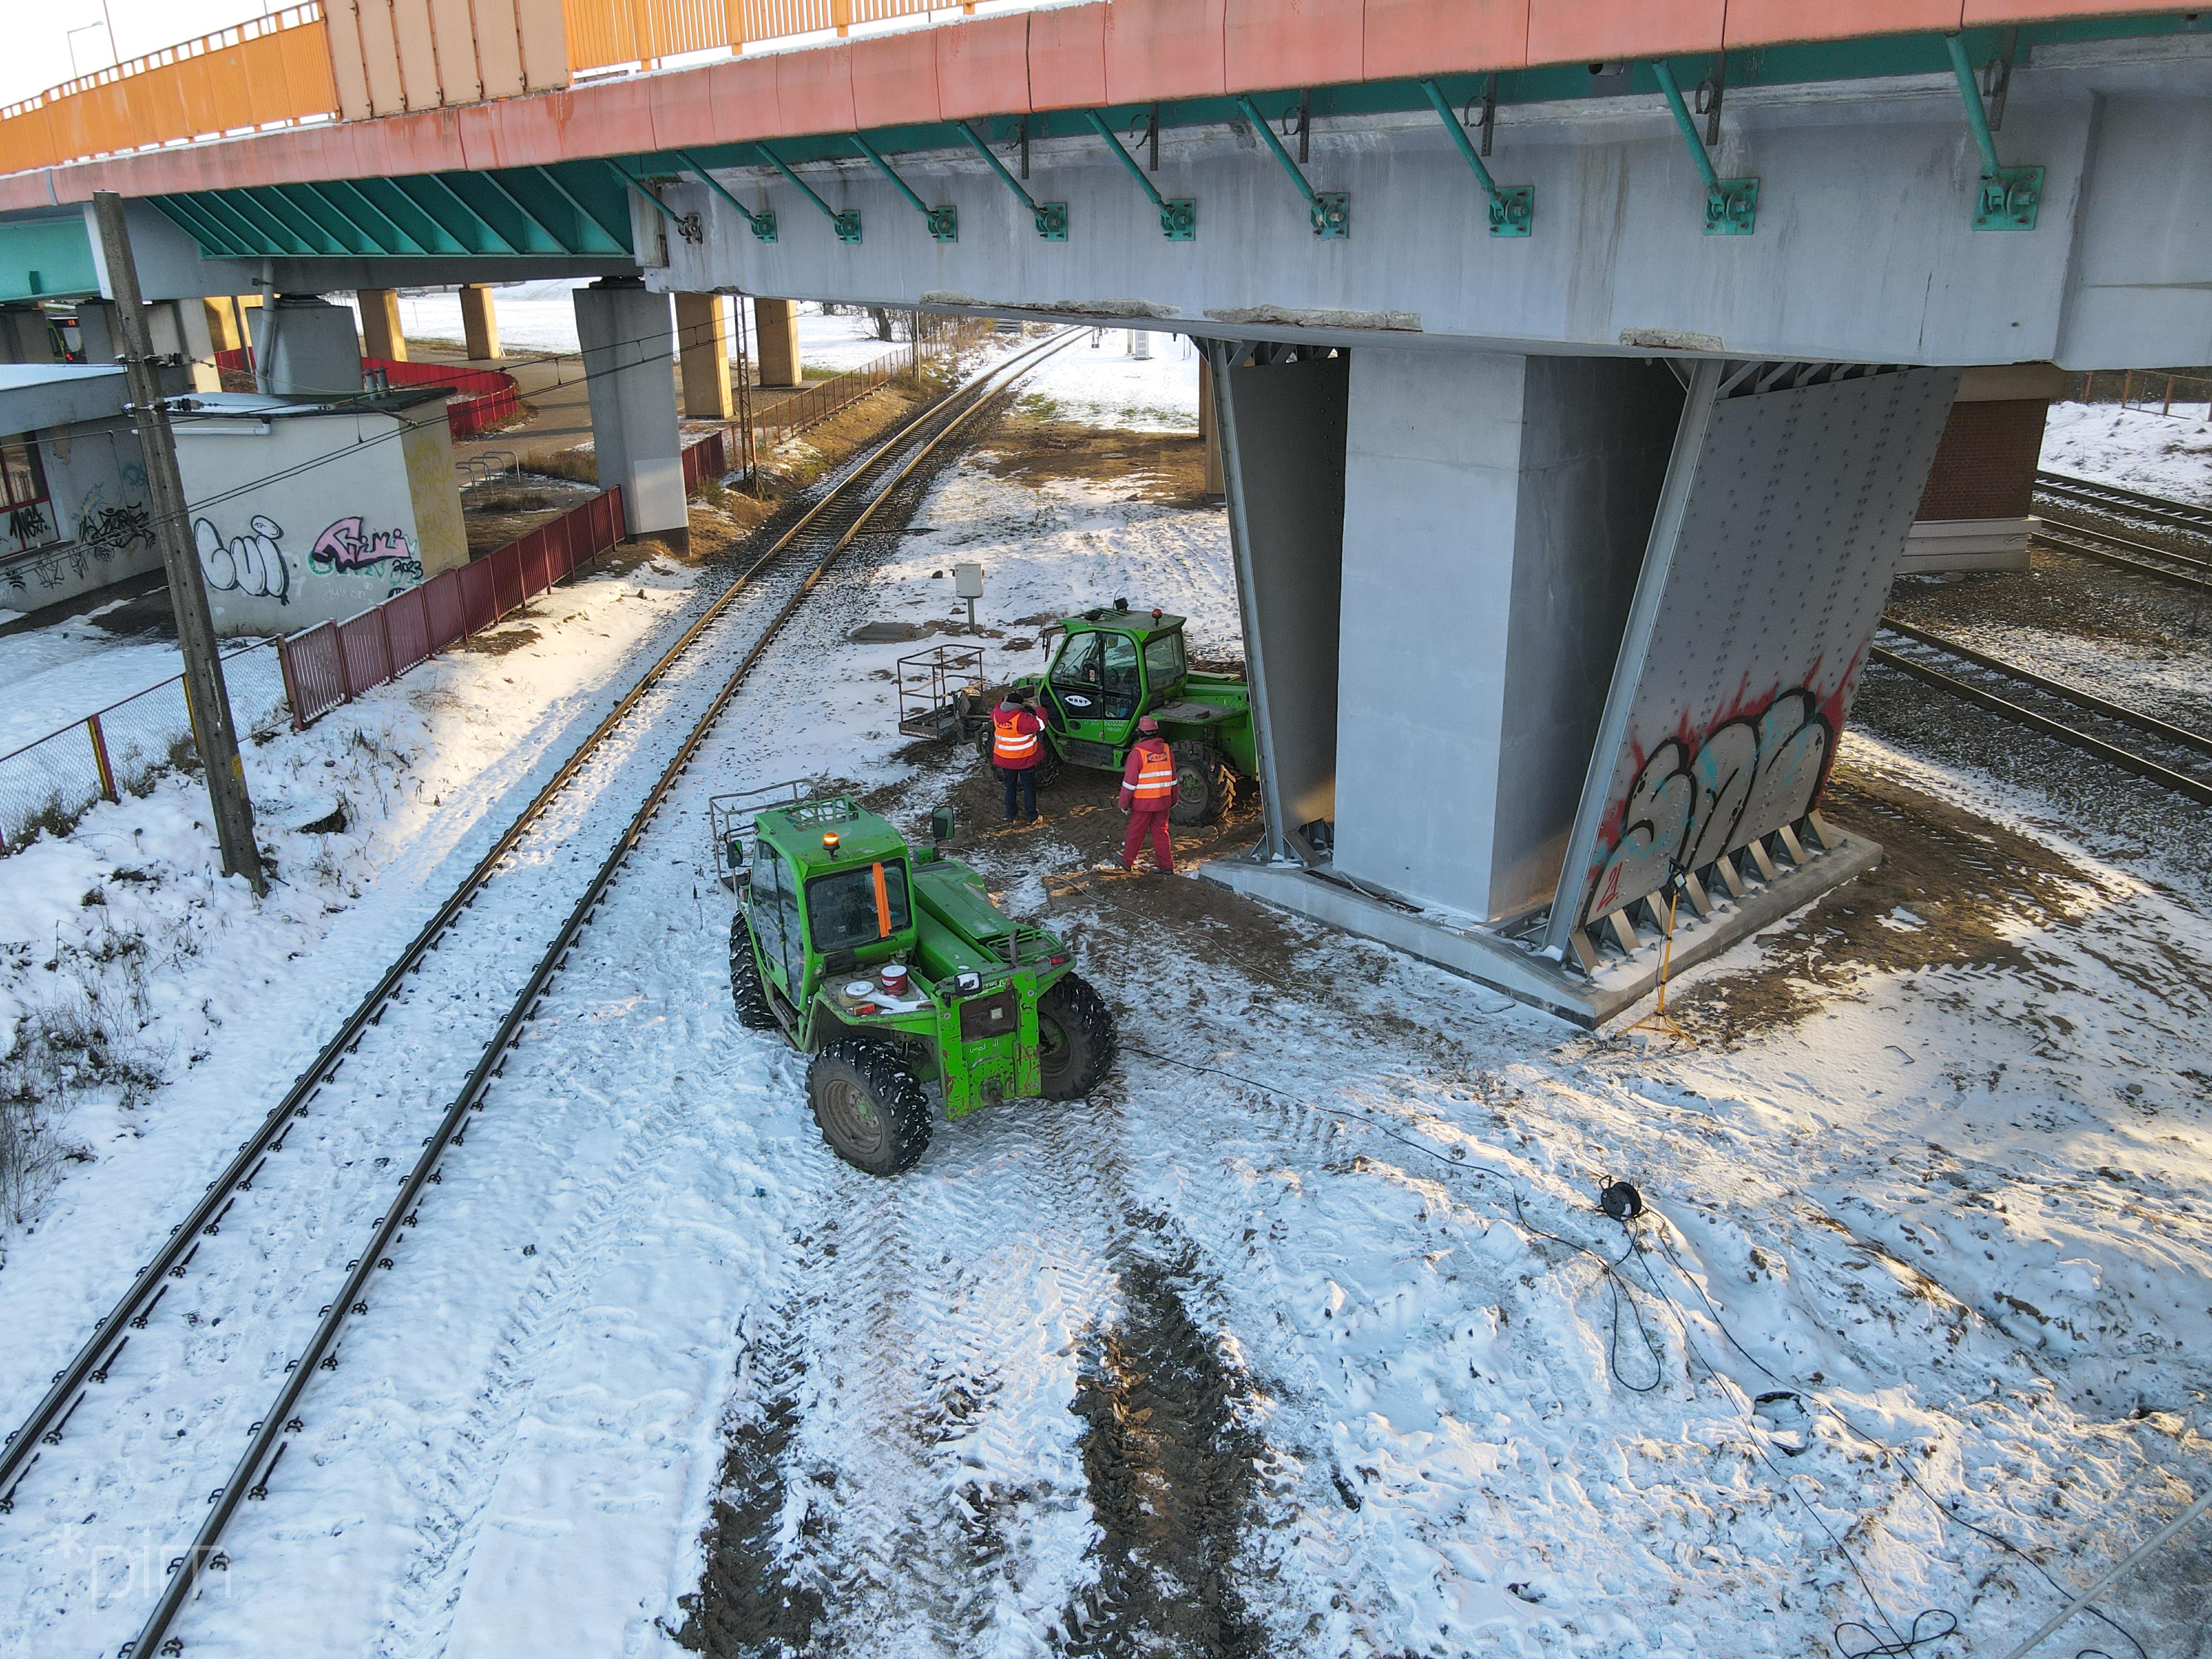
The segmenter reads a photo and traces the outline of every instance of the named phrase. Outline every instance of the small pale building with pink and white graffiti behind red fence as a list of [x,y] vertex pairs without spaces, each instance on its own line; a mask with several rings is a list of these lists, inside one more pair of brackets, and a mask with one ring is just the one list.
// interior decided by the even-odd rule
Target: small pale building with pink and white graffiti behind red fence
[[201,398],[177,465],[221,635],[338,622],[469,557],[436,398]]

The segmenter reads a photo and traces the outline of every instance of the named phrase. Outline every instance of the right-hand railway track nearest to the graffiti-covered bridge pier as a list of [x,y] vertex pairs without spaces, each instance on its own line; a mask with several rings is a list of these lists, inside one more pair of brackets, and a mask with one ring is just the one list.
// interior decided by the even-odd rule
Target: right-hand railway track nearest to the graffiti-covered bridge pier
[[2190,732],[1971,646],[1882,617],[1874,661],[2212,805],[2212,737]]

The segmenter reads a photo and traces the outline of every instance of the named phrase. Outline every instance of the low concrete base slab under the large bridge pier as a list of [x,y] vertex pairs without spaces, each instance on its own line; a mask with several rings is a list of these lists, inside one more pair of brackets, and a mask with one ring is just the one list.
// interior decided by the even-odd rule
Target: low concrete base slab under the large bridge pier
[[[1674,929],[1670,973],[1710,962],[1739,940],[1772,927],[1882,860],[1882,849],[1874,841],[1840,832],[1834,841],[1834,847],[1809,854],[1803,865],[1776,865],[1778,874],[1772,883],[1754,878],[1743,900],[1717,894],[1710,916],[1690,916],[1683,907]],[[1391,905],[1329,872],[1296,863],[1219,858],[1203,865],[1199,874],[1245,898],[1312,916],[1329,927],[1418,956],[1422,962],[1464,973],[1478,984],[1504,991],[1517,1002],[1584,1029],[1601,1026],[1659,989],[1661,951],[1659,940],[1648,933],[1632,958],[1608,958],[1595,975],[1584,975],[1537,956],[1500,931],[1453,922],[1436,911]]]

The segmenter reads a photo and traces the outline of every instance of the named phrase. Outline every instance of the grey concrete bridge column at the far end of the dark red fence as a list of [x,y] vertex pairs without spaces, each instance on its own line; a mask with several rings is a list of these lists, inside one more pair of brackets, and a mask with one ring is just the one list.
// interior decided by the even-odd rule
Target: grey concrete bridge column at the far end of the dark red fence
[[668,358],[668,294],[637,276],[602,276],[575,290],[575,334],[591,385],[591,442],[599,484],[622,487],[630,535],[657,535],[690,549],[684,453]]

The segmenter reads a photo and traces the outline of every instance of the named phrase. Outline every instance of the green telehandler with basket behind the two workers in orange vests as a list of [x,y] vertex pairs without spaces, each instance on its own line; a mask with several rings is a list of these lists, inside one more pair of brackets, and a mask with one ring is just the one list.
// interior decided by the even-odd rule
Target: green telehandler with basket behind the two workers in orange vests
[[[1037,787],[1062,765],[1121,772],[1137,745],[1137,721],[1150,714],[1175,754],[1170,823],[1212,823],[1228,805],[1234,776],[1256,776],[1252,690],[1234,675],[1208,675],[1183,650],[1183,617],[1130,611],[1128,599],[1062,617],[1040,646],[1060,650],[1042,675],[1013,684],[1031,692],[1044,721]],[[982,653],[938,646],[898,664],[898,730],[909,737],[962,737],[991,761],[991,699]]]

